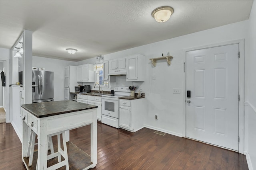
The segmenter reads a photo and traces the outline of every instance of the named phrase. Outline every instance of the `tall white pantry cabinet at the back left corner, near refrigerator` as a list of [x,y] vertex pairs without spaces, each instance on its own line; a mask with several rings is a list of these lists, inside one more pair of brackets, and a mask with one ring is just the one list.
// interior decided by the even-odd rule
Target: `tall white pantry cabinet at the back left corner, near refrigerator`
[[70,100],[70,92],[75,92],[76,66],[67,66],[64,68],[64,100]]

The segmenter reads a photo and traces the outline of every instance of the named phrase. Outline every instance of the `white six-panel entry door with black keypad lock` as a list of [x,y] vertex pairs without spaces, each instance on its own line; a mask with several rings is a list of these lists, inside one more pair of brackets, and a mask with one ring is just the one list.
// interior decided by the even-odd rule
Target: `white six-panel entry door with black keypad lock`
[[238,44],[186,53],[186,137],[238,150],[238,53]]

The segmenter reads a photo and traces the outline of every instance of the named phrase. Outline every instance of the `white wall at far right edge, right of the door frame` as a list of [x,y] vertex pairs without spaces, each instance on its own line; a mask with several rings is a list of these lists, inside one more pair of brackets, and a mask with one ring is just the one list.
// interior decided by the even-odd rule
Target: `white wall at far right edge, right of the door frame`
[[246,59],[245,150],[248,166],[256,169],[256,3],[254,1],[248,24]]

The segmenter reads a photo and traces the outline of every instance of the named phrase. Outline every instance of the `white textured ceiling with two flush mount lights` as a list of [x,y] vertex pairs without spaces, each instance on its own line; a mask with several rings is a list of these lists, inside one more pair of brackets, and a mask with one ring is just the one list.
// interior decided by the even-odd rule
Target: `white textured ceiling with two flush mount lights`
[[[90,59],[229,23],[247,20],[253,0],[0,0],[0,47],[33,31],[33,55]],[[151,12],[171,6],[158,23]],[[75,55],[66,48],[78,49]]]

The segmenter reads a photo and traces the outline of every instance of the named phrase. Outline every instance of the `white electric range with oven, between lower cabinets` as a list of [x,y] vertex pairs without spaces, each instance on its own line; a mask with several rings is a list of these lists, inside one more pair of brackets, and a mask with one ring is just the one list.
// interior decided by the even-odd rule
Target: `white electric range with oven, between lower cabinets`
[[119,127],[119,98],[130,96],[128,87],[115,87],[114,94],[102,95],[101,122],[116,128]]

